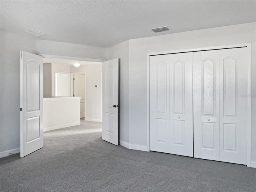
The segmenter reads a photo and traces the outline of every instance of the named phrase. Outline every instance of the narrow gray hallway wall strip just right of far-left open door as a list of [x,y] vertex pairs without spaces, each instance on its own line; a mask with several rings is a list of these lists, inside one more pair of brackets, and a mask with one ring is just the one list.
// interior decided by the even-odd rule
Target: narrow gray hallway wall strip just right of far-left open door
[[52,64],[44,63],[44,98],[52,96]]

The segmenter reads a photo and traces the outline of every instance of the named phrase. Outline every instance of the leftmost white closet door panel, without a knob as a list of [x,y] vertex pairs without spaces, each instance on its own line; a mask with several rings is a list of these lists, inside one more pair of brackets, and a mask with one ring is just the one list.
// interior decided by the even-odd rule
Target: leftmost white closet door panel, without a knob
[[170,55],[150,56],[150,150],[170,153]]

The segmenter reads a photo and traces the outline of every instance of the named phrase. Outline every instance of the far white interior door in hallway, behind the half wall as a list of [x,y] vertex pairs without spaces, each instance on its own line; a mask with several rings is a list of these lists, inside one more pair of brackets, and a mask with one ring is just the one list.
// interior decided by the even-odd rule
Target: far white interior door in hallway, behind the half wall
[[74,96],[81,97],[80,118],[85,117],[85,76],[84,74],[74,74]]

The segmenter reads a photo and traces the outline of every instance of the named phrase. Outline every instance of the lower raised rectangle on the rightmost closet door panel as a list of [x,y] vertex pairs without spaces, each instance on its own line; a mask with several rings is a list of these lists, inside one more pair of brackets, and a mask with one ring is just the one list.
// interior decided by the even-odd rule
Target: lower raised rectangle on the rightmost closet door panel
[[223,124],[223,150],[236,151],[236,126],[237,124]]

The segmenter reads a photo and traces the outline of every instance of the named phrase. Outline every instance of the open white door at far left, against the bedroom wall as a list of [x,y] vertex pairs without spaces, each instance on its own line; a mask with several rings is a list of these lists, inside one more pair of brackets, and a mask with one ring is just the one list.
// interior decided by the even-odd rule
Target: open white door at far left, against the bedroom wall
[[20,51],[20,157],[43,147],[43,58]]

